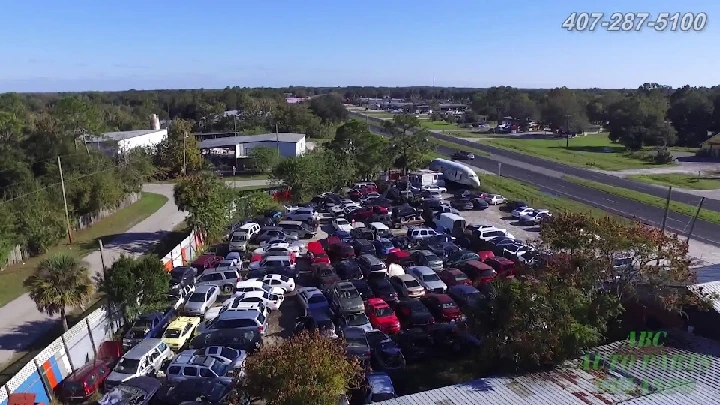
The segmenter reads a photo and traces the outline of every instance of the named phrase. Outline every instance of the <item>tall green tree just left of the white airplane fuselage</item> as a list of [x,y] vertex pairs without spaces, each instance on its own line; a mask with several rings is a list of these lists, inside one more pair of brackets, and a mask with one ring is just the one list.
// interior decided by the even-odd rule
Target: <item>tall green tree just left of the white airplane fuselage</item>
[[392,121],[383,122],[383,128],[391,135],[388,155],[394,157],[394,166],[407,173],[424,163],[425,156],[434,150],[430,132],[422,128],[414,115],[398,114]]

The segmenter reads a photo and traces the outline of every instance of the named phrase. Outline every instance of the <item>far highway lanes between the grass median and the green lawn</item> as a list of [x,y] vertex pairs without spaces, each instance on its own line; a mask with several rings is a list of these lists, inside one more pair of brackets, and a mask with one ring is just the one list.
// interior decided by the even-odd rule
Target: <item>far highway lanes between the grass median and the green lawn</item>
[[[365,119],[365,116],[355,114],[356,116],[359,116],[362,119]],[[370,117],[368,119],[370,123],[373,121],[375,122],[382,122],[382,120],[377,120],[374,117]],[[618,176],[613,176],[605,173],[601,173],[594,170],[588,170],[583,169],[575,166],[569,166],[562,163],[557,163],[550,160],[545,160],[541,158],[537,158],[530,155],[525,155],[522,153],[512,152],[505,149],[496,148],[493,146],[485,145],[479,142],[473,142],[470,140],[457,138],[450,135],[443,135],[436,131],[433,131],[434,136],[436,136],[439,139],[443,139],[449,142],[454,142],[458,145],[464,145],[468,146],[474,149],[479,149],[484,152],[488,152],[491,154],[490,159],[493,160],[493,165],[495,166],[493,169],[494,172],[497,172],[497,162],[502,161],[503,167],[506,167],[507,165],[516,165],[524,167],[525,169],[530,169],[533,171],[539,171],[542,172],[545,175],[550,175],[553,177],[562,177],[564,175],[570,175],[575,177],[580,177],[587,180],[593,180],[599,183],[603,184],[609,184],[612,186],[622,187],[629,190],[635,190],[639,191],[645,194],[654,195],[656,197],[666,198],[667,197],[667,189],[663,187],[658,187],[652,184],[647,183],[641,183],[638,181],[633,181],[630,179],[624,179]],[[480,157],[480,159],[488,159],[485,157]],[[531,179],[531,178],[530,178]],[[529,180],[529,179],[528,179]],[[672,200],[690,204],[690,205],[697,205],[700,202],[700,197],[697,195],[693,195],[690,193],[680,192],[680,191],[673,191],[672,194]],[[704,209],[712,210],[712,211],[718,211],[720,212],[720,199],[706,199],[705,203],[703,204]],[[720,228],[719,228],[720,229]],[[720,238],[720,236],[718,236]]]

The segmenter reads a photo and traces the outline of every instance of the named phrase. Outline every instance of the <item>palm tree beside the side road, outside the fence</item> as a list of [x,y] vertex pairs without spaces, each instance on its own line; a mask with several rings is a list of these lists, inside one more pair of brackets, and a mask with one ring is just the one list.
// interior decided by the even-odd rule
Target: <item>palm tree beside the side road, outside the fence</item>
[[82,307],[93,295],[93,282],[87,267],[65,254],[43,260],[35,274],[25,280],[25,287],[38,311],[50,316],[60,314],[65,331],[68,330],[66,308]]

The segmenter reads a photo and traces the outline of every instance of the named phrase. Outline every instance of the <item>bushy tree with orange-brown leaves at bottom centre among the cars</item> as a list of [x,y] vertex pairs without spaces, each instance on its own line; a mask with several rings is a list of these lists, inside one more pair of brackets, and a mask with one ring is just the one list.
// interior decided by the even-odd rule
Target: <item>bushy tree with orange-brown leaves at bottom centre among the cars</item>
[[268,405],[336,405],[359,386],[360,374],[342,339],[303,333],[248,357],[242,389]]

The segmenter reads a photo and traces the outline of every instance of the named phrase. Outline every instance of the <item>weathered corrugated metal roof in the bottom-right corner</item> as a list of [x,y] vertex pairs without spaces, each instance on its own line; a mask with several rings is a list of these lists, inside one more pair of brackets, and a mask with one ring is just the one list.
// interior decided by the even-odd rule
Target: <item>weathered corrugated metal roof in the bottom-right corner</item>
[[[490,377],[381,402],[385,405],[611,405],[720,404],[720,345],[689,334],[668,337],[665,346],[637,348],[626,341],[592,351],[595,370],[582,359],[553,371]],[[636,361],[616,361],[614,355]],[[590,359],[592,357],[589,357]],[[626,359],[629,357],[625,357]],[[594,360],[593,360],[594,361]],[[586,363],[587,364],[587,363]],[[613,387],[611,383],[617,387]],[[602,390],[601,387],[606,387]]]

